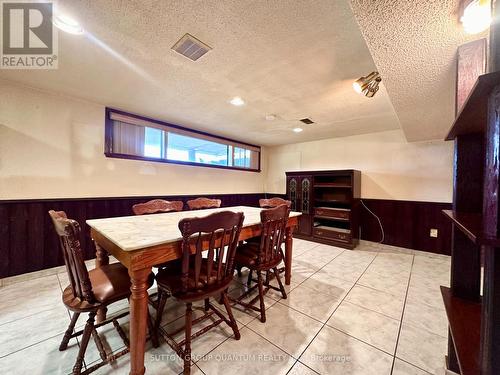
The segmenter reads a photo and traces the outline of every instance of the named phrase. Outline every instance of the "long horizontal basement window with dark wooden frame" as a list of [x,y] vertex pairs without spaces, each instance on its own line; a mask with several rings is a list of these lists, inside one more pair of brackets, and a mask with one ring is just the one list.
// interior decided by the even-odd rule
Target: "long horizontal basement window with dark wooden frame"
[[260,147],[106,108],[108,157],[260,171]]

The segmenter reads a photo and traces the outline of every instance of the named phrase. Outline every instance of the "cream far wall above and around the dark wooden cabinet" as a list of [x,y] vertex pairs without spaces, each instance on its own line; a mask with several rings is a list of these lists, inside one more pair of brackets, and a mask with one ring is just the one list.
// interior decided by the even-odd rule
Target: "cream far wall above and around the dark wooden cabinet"
[[285,192],[286,171],[359,169],[363,198],[452,201],[453,142],[408,143],[400,130],[271,147],[268,163],[270,193]]

